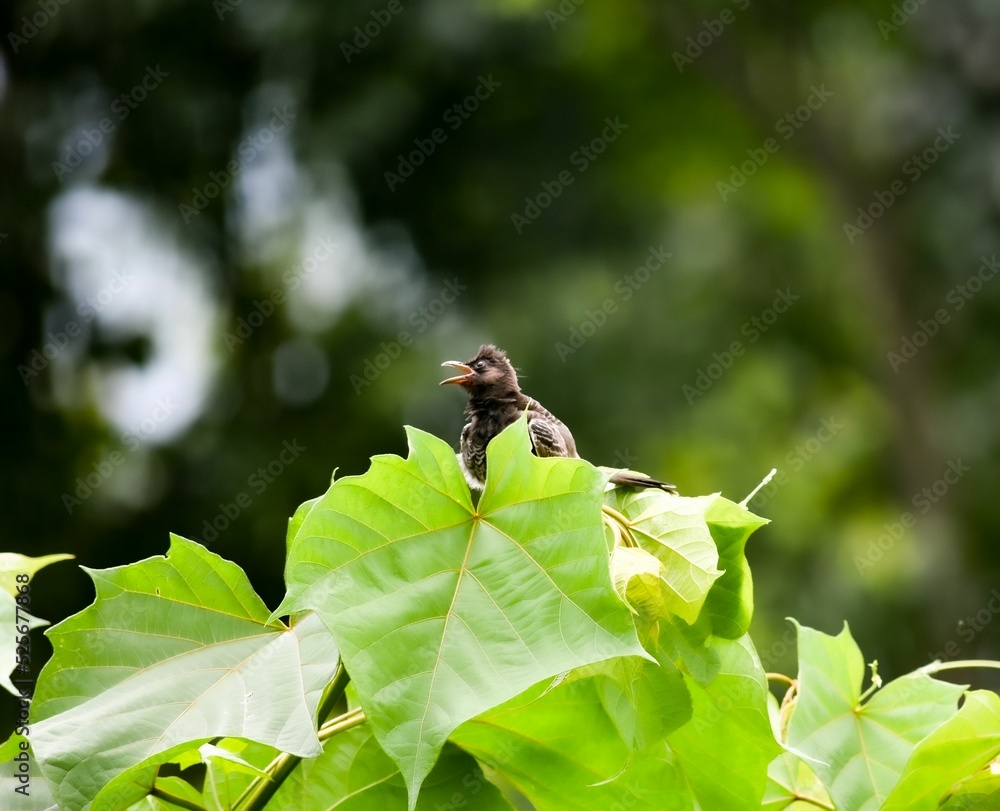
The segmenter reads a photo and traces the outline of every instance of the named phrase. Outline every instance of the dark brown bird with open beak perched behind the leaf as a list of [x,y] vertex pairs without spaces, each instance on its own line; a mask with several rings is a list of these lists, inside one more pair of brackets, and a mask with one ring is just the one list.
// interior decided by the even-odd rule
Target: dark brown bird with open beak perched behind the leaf
[[[532,452],[536,456],[580,458],[569,428],[541,403],[521,391],[517,372],[502,349],[483,344],[472,360],[447,360],[441,365],[450,366],[459,374],[442,380],[440,385],[461,386],[469,395],[465,407],[468,422],[462,428],[458,461],[471,488],[481,490],[485,486],[486,446],[525,413]],[[616,471],[609,481],[625,487],[677,492],[672,484],[630,470]]]

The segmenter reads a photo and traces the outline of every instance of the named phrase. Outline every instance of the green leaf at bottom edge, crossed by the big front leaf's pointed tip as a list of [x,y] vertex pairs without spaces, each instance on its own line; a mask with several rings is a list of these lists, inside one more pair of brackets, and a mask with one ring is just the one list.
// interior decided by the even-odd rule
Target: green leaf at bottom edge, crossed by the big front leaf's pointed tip
[[[323,754],[303,761],[267,804],[268,811],[397,811],[407,807],[406,785],[367,725],[334,736]],[[424,781],[416,811],[470,808],[511,811],[511,805],[483,775],[479,764],[446,744]]]

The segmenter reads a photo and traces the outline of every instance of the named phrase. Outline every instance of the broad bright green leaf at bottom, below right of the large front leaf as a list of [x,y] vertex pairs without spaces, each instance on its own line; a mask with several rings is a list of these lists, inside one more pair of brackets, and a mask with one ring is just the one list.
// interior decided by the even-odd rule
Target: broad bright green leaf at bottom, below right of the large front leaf
[[748,639],[714,644],[719,675],[707,688],[684,677],[687,691],[673,692],[674,711],[691,717],[665,741],[623,740],[631,730],[608,707],[601,674],[551,690],[536,686],[463,724],[452,740],[539,811],[757,811],[768,763],[780,751],[767,718],[764,674]]

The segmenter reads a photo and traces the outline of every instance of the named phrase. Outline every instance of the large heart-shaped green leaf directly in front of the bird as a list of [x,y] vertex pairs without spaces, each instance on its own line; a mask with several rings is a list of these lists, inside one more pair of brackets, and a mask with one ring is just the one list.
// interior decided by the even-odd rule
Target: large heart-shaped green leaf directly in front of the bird
[[603,474],[532,455],[522,419],[490,443],[474,506],[454,451],[407,435],[406,459],[374,457],[304,516],[275,613],[323,617],[412,804],[463,721],[574,667],[647,654],[611,582]]

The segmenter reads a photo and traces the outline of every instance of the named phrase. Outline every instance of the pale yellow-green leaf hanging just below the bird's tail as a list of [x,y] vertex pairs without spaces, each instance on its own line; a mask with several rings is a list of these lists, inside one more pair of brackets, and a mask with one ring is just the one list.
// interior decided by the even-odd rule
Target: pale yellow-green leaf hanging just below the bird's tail
[[[647,589],[655,583],[651,576],[662,584],[658,599],[666,610],[661,616],[669,612],[693,623],[709,589],[722,574],[719,552],[705,522],[705,511],[714,498],[684,498],[655,488],[622,487],[605,496],[605,501],[628,520],[628,530],[639,547],[662,563],[656,572],[644,566],[642,575]],[[626,557],[625,563],[637,564],[639,558]],[[631,576],[639,574],[633,572]]]

